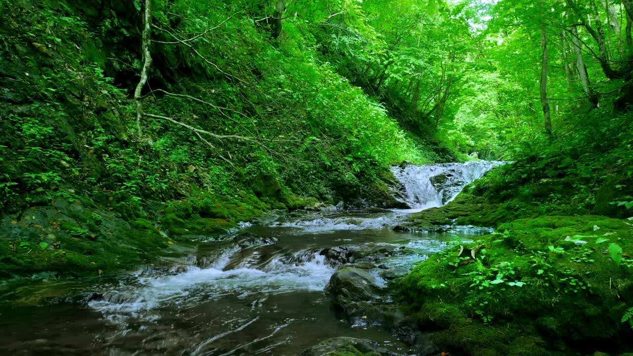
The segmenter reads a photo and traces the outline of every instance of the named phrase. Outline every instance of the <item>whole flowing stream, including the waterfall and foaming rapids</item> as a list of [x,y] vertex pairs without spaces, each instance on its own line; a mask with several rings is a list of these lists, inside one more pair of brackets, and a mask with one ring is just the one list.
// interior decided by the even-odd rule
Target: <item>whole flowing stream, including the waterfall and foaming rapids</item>
[[[175,246],[184,257],[160,268],[108,278],[39,275],[5,282],[0,354],[297,355],[335,336],[368,338],[415,354],[381,326],[350,325],[339,314],[323,289],[340,261],[326,252],[406,250],[380,263],[412,267],[454,236],[392,228],[412,211],[451,200],[498,164],[394,167],[399,194],[413,210],[270,215],[232,236]],[[436,178],[441,174],[448,179]],[[461,229],[458,235],[468,240],[480,232]],[[379,277],[379,283],[386,281]]]

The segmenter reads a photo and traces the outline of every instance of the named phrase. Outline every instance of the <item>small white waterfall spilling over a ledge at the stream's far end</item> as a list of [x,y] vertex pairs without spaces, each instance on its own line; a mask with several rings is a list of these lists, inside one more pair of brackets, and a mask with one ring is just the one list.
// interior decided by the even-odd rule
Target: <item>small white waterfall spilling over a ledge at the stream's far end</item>
[[414,209],[442,207],[453,200],[467,184],[506,162],[476,161],[438,165],[391,167],[400,182],[405,203]]

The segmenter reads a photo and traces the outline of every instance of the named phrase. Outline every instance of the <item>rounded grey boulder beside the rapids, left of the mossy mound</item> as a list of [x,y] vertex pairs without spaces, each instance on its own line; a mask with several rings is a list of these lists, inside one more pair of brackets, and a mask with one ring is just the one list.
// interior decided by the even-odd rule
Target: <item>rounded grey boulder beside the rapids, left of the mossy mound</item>
[[339,305],[375,299],[380,289],[375,277],[367,270],[351,266],[344,266],[334,272],[327,286],[327,291],[335,296]]

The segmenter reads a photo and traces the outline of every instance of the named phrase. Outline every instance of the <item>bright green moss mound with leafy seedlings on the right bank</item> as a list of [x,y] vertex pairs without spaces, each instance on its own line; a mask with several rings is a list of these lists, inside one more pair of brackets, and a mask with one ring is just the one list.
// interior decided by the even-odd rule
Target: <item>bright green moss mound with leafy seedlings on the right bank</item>
[[[514,220],[477,242],[484,248],[476,262],[460,260],[458,249],[451,248],[415,267],[399,293],[419,312],[419,324],[450,330],[438,336],[443,345],[472,355],[489,350],[547,355],[542,340],[599,345],[627,331],[620,318],[625,305],[633,305],[633,272],[625,267],[631,263],[624,258],[618,267],[606,248],[617,243],[627,255],[633,253],[632,228],[626,220],[595,215]],[[466,318],[477,325],[468,325]],[[503,352],[499,345],[463,343],[474,338],[470,333],[487,338],[482,329],[502,325],[534,329],[523,333],[524,346]]]

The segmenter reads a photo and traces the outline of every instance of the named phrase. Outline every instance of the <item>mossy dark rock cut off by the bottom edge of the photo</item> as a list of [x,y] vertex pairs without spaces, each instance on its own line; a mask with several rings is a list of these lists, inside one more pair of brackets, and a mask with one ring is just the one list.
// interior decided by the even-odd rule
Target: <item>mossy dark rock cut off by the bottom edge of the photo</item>
[[361,353],[372,353],[380,356],[397,356],[385,348],[381,348],[371,340],[356,338],[332,338],[318,343],[299,356],[339,356],[339,355],[360,355]]

